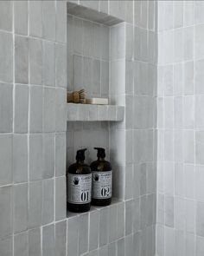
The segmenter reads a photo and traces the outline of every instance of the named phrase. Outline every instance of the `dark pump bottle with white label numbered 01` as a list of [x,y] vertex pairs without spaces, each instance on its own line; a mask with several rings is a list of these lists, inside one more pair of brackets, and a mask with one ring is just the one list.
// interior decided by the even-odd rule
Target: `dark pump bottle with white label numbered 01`
[[92,174],[84,163],[85,151],[77,151],[76,162],[67,171],[67,209],[74,213],[85,213],[91,207]]

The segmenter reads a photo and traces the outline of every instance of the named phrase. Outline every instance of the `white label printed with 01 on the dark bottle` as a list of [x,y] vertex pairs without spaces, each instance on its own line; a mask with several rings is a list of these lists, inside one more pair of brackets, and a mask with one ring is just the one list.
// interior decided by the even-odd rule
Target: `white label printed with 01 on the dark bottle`
[[91,202],[92,174],[67,174],[67,202],[87,204]]

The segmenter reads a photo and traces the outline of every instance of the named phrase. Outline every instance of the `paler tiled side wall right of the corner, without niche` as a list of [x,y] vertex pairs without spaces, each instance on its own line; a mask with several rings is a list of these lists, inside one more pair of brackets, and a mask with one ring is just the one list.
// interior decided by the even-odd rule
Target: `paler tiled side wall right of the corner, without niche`
[[157,255],[203,253],[203,6],[158,2]]

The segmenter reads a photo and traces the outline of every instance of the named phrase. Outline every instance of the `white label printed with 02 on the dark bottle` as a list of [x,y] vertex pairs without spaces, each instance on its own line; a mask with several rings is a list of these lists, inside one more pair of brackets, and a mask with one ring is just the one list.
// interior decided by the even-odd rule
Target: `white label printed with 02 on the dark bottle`
[[112,171],[92,172],[92,198],[108,199],[112,197]]

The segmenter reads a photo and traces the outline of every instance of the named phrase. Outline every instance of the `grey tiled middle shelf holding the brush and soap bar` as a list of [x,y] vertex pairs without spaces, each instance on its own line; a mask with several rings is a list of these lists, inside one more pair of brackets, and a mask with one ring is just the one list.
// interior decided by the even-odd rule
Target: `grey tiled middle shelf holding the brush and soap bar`
[[123,121],[124,106],[67,103],[67,121]]

